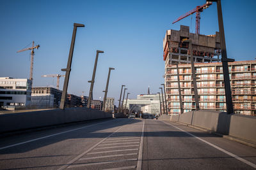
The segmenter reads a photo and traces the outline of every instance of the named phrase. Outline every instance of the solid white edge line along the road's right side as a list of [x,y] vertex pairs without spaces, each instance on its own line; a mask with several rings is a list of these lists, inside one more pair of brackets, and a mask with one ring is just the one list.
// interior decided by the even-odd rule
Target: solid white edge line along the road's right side
[[[161,121],[161,122],[163,122],[163,121]],[[168,123],[164,122],[164,124],[168,124]],[[208,145],[220,150],[221,152],[224,152],[227,155],[230,155],[231,157],[234,157],[235,159],[240,160],[241,162],[244,162],[245,164],[248,164],[249,166],[252,166],[252,167],[256,168],[256,165],[253,164],[252,162],[249,162],[248,160],[245,160],[245,159],[243,159],[243,158],[241,158],[241,157],[239,157],[239,156],[237,156],[237,155],[235,155],[231,152],[228,152],[227,150],[224,150],[223,148],[220,148],[219,146],[216,146],[212,143],[209,143],[208,141],[205,141],[204,139],[198,138],[197,136],[195,136],[195,135],[193,135],[189,132],[186,132],[183,129],[180,129],[179,127],[176,127],[175,125],[172,125],[172,124],[168,124],[168,125],[171,125],[172,127],[175,127],[176,129],[179,129],[180,131],[185,132],[186,134],[189,134],[190,136],[193,136],[194,138],[199,139],[200,141],[203,141],[204,143],[207,143]]]

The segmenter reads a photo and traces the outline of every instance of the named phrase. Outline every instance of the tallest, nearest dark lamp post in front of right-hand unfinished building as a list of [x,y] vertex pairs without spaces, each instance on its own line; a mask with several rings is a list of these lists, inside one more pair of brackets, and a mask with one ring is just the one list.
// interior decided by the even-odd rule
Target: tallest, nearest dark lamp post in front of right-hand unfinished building
[[[209,1],[209,0],[206,0],[206,1]],[[211,1],[217,3],[218,23],[219,23],[219,31],[220,31],[220,44],[221,44],[221,62],[223,67],[227,113],[231,114],[231,113],[234,113],[234,108],[233,108],[233,102],[232,102],[230,78],[228,73],[228,62],[234,62],[234,59],[228,59],[227,57],[224,25],[223,25],[222,10],[221,10],[221,1],[220,0],[211,0]]]

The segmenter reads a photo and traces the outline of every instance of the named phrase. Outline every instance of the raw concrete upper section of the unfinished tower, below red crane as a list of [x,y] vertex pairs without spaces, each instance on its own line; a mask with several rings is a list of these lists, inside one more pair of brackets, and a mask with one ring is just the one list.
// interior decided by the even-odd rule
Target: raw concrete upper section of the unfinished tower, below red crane
[[[220,61],[220,33],[214,35],[202,35],[189,32],[189,27],[180,25],[180,30],[168,30],[163,39],[165,64],[190,63],[188,43],[183,40],[191,39],[193,46],[193,58],[195,62]],[[217,57],[217,58],[216,58]]]

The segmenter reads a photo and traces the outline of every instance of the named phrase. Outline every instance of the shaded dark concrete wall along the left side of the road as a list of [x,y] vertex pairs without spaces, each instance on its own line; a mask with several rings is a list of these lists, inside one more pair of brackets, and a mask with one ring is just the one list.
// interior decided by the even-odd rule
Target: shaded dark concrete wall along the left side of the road
[[10,113],[0,115],[0,133],[99,118],[112,118],[112,114],[88,108],[67,108],[65,110],[56,109]]

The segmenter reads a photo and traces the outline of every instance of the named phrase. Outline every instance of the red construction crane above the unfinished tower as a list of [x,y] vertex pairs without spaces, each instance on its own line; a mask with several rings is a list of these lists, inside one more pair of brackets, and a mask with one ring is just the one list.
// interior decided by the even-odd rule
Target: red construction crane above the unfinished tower
[[179,20],[182,20],[183,18],[188,17],[189,15],[192,15],[193,13],[196,13],[196,34],[200,34],[200,12],[208,8],[212,2],[207,1],[206,4],[203,4],[201,6],[196,6],[195,9],[188,11],[184,15],[181,15],[177,20],[173,21],[172,24],[175,22],[178,22]]

